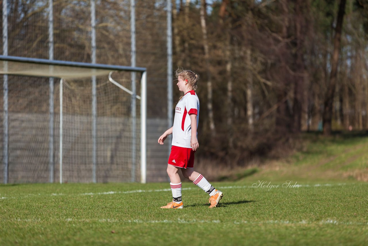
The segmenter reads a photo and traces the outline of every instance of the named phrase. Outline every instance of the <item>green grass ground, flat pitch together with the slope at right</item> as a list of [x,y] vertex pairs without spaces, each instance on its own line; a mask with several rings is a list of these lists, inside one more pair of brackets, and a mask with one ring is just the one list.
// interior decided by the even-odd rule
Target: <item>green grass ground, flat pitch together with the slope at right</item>
[[224,197],[213,209],[189,182],[184,209],[159,208],[168,183],[0,185],[0,245],[367,245],[368,183],[353,174],[367,169],[367,143],[312,141],[214,182]]

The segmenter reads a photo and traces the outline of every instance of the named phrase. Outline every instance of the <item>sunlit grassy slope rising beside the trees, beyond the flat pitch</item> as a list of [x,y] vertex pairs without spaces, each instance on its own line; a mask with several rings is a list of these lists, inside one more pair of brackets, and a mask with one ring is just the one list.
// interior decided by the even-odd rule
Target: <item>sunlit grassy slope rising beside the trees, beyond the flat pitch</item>
[[368,181],[368,137],[304,135],[301,151],[268,162],[252,179]]

